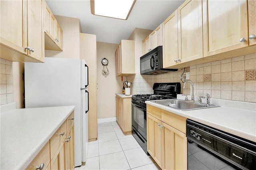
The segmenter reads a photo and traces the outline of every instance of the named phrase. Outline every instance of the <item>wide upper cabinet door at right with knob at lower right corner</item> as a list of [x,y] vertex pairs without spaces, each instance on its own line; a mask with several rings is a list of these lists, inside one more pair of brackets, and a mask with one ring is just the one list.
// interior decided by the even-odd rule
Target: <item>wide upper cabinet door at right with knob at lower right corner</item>
[[203,16],[204,57],[248,46],[246,0],[203,0]]

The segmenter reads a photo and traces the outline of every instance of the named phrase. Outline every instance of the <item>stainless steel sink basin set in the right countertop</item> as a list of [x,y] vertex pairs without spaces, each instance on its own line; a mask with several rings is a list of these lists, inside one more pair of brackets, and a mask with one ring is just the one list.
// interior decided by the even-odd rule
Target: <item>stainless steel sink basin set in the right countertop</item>
[[165,105],[174,109],[178,109],[180,111],[190,111],[190,110],[196,110],[196,109],[207,109],[212,107],[220,107],[216,105],[209,105],[206,106],[205,103],[197,103],[195,101],[184,101],[179,99],[170,99],[170,100],[162,100],[162,101],[155,101],[156,103],[160,105]]

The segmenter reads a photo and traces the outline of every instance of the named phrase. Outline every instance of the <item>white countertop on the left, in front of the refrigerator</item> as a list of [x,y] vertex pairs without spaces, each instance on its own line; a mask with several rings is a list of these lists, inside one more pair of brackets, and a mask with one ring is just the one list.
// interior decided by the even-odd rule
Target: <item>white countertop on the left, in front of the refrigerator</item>
[[25,169],[74,108],[43,107],[1,113],[0,169]]

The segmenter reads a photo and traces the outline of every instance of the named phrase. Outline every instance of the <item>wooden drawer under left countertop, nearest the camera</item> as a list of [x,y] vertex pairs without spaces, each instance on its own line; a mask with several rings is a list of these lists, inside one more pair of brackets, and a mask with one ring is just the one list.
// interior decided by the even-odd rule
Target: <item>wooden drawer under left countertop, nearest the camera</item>
[[36,158],[29,164],[26,170],[35,170],[36,166],[44,164],[44,167],[47,167],[50,163],[50,142],[48,141],[42,150],[38,153]]

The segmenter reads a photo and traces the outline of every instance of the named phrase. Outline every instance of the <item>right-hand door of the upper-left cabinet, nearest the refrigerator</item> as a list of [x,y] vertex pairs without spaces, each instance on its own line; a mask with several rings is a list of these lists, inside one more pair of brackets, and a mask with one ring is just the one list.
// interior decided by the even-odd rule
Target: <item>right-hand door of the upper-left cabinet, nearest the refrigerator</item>
[[[42,56],[42,1],[41,0],[28,0],[28,47],[33,49],[28,51],[28,55],[43,61]],[[34,51],[34,52],[33,52]]]

